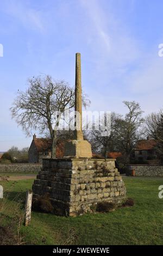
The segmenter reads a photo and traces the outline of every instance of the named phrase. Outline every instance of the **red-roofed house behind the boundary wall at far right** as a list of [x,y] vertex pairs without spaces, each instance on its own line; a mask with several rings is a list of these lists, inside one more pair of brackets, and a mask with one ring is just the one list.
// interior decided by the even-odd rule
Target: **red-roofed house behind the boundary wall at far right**
[[155,160],[155,147],[157,143],[158,141],[155,139],[142,139],[141,141],[138,141],[135,148],[135,160]]

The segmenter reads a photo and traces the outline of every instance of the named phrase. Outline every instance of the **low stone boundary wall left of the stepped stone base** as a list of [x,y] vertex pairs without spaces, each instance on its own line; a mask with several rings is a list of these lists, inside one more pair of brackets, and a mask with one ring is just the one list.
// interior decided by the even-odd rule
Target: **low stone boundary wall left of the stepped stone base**
[[0,163],[1,173],[39,173],[42,164],[38,163]]

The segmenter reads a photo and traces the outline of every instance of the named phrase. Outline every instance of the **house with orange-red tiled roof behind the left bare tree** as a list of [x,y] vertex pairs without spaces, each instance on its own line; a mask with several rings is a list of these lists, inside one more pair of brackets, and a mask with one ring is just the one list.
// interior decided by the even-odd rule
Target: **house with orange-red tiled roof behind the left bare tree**
[[[28,151],[29,163],[42,163],[42,159],[51,158],[52,153],[52,140],[46,138],[36,138],[33,136],[33,141]],[[63,150],[61,145],[57,147],[57,157],[63,157]]]

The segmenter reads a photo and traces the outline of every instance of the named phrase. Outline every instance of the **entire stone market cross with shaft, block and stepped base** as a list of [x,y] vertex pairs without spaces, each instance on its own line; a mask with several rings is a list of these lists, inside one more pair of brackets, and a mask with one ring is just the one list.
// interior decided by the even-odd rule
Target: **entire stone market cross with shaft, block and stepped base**
[[[91,144],[83,139],[82,82],[80,53],[76,53],[75,110],[79,113],[79,130],[65,145],[65,157],[43,159],[42,168],[33,184],[33,202],[49,198],[53,213],[77,216],[98,205],[122,205],[126,187],[115,166],[115,159],[93,159]],[[38,205],[36,203],[36,205]],[[116,208],[115,206],[115,208]]]

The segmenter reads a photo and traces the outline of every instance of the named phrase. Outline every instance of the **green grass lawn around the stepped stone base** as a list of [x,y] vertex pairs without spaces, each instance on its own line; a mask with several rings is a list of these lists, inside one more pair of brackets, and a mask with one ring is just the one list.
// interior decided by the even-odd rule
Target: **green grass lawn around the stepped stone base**
[[[163,245],[163,199],[158,198],[163,178],[123,180],[127,196],[135,200],[133,207],[78,217],[33,212],[30,226],[21,228],[23,240],[35,245]],[[1,183],[10,187],[13,182]],[[17,181],[8,200],[18,192],[25,198],[32,184],[33,180]]]

